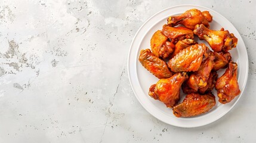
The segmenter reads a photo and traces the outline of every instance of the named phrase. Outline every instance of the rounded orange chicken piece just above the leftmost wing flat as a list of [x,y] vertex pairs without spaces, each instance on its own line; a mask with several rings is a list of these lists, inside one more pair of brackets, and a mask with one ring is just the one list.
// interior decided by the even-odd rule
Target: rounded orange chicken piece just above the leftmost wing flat
[[150,46],[153,54],[159,58],[167,58],[174,51],[175,45],[168,41],[168,38],[162,34],[161,30],[156,31],[151,40]]

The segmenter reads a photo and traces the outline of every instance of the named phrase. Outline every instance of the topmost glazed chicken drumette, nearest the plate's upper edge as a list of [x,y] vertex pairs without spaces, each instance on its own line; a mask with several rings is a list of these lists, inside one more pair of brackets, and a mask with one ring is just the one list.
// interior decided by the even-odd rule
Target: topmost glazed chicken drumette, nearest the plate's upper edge
[[209,22],[212,21],[212,15],[209,14],[209,11],[203,11],[197,9],[187,10],[185,13],[177,16],[171,16],[167,19],[167,24],[169,26],[177,26],[182,24],[187,28],[194,30],[196,24],[203,24],[206,27],[209,27]]

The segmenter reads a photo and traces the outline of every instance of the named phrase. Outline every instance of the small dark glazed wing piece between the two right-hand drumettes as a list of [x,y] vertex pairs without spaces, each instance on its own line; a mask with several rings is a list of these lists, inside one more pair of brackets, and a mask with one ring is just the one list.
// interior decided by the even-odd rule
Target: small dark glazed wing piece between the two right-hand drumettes
[[213,52],[215,55],[214,68],[213,70],[217,71],[227,67],[227,64],[231,60],[231,55],[229,52]]

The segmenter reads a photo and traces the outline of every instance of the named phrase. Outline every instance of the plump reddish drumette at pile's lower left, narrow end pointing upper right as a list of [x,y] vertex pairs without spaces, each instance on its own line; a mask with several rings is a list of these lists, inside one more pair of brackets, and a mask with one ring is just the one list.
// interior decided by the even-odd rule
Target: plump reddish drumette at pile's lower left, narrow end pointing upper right
[[164,102],[166,107],[173,107],[180,100],[180,87],[187,79],[187,73],[175,73],[168,79],[160,79],[150,86],[149,95],[155,100]]

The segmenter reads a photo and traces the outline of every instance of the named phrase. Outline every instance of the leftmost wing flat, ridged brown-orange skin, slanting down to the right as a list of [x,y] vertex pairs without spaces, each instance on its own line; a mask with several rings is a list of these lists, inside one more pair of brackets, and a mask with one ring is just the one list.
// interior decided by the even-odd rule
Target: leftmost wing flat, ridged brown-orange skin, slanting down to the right
[[169,71],[165,61],[156,57],[150,49],[141,49],[138,60],[143,67],[159,79],[165,79],[172,76],[172,72]]

